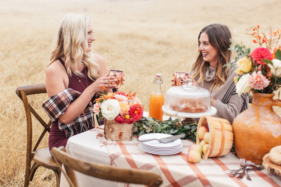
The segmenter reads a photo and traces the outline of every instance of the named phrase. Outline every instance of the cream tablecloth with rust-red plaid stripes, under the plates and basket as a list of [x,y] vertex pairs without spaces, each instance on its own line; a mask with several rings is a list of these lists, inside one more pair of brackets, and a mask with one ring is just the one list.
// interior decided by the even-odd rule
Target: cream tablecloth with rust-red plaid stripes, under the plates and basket
[[[97,138],[106,145],[111,165],[122,168],[148,170],[161,175],[163,187],[180,186],[281,186],[281,180],[268,170],[250,171],[251,181],[229,177],[225,170],[239,169],[239,159],[229,153],[222,157],[208,158],[192,164],[187,161],[188,148],[193,143],[182,140],[183,150],[175,155],[160,156],[141,150],[136,136],[132,141],[107,141],[103,129],[95,128]],[[134,185],[132,185],[134,186]]]

